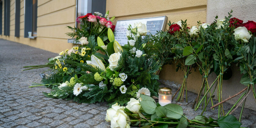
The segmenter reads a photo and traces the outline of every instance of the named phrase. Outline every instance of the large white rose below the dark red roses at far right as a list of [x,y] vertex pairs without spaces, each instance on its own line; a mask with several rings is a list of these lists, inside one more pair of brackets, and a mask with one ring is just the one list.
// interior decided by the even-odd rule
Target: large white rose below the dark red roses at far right
[[248,42],[252,35],[248,32],[246,27],[238,27],[234,29],[235,40],[243,40]]

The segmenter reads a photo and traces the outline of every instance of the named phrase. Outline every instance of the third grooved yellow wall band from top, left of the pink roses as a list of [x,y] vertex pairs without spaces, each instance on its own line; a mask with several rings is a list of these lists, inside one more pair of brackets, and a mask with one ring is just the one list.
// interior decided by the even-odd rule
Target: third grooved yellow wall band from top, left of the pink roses
[[70,29],[67,28],[67,25],[74,26],[74,24],[62,24],[62,25],[49,26],[49,27],[37,27],[37,36],[68,39],[70,37],[68,37],[65,33],[71,32],[71,31]]

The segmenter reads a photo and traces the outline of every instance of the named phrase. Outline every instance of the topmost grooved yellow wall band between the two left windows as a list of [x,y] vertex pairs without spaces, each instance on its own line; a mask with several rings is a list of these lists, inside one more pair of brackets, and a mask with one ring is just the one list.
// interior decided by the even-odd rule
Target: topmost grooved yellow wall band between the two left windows
[[71,6],[75,7],[75,4],[75,0],[52,0],[38,7],[37,16],[39,17]]

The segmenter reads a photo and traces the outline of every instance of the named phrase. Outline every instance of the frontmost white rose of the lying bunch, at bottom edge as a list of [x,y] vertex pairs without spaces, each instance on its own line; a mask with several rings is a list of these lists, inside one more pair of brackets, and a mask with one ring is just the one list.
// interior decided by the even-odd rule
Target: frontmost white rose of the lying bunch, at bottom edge
[[122,110],[117,110],[116,115],[111,119],[111,128],[127,128],[129,125],[126,120],[128,119],[127,114]]

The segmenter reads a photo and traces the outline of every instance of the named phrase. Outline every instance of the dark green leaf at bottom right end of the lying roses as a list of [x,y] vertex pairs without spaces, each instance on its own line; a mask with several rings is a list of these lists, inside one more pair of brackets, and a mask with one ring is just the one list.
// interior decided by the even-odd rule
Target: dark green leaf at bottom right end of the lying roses
[[222,116],[217,123],[221,128],[239,128],[242,125],[233,115]]

